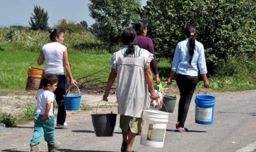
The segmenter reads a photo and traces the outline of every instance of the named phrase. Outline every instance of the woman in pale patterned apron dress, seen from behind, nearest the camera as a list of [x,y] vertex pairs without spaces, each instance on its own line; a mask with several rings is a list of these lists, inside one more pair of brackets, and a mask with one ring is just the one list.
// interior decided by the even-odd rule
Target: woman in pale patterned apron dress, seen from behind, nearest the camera
[[[123,135],[121,151],[133,151],[133,142],[141,129],[143,109],[150,108],[150,98],[156,100],[150,62],[153,54],[136,45],[137,34],[129,28],[123,31],[125,46],[113,54],[103,100],[107,101],[110,87],[117,77],[117,102]],[[150,92],[150,96],[149,93]]]

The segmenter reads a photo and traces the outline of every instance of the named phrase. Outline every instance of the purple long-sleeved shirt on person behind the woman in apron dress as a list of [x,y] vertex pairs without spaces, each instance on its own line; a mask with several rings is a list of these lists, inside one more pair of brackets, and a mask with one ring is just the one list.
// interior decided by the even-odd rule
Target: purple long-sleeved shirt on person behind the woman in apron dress
[[158,74],[158,63],[156,61],[154,44],[153,44],[151,38],[148,38],[148,37],[142,36],[142,35],[138,35],[137,36],[137,45],[140,48],[144,48],[144,49],[148,50],[149,52],[151,52],[152,54],[154,54],[154,59],[151,61],[150,66],[152,67],[154,74],[157,75]]

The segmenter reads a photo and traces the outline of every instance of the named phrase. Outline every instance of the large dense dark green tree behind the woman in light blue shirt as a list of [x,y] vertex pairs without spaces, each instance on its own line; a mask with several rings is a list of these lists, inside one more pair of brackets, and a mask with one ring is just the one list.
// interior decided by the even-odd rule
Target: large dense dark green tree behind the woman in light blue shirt
[[[255,55],[255,1],[149,0],[140,11],[160,56],[172,56],[187,24],[197,28],[210,73],[233,56]],[[209,70],[208,70],[209,71]]]

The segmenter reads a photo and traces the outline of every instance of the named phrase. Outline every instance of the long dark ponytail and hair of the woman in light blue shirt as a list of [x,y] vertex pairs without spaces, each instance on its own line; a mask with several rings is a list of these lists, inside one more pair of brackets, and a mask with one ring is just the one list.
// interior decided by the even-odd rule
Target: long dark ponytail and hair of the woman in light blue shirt
[[195,30],[194,26],[187,25],[184,32],[185,35],[187,35],[187,38],[189,38],[189,64],[191,65],[195,52],[195,34],[197,33],[197,31]]

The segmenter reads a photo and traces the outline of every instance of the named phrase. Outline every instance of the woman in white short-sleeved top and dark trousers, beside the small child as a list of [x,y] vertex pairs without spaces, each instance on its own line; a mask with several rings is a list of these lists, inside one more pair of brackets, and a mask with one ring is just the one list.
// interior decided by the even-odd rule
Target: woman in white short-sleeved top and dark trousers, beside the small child
[[44,44],[38,57],[38,65],[42,65],[45,60],[45,74],[52,73],[57,75],[59,83],[55,91],[56,102],[58,104],[57,126],[67,126],[65,122],[66,110],[63,95],[67,90],[67,81],[65,79],[65,72],[69,77],[69,84],[76,83],[71,74],[69,60],[67,56],[67,47],[63,45],[64,33],[61,30],[49,30],[50,39],[52,42]]

